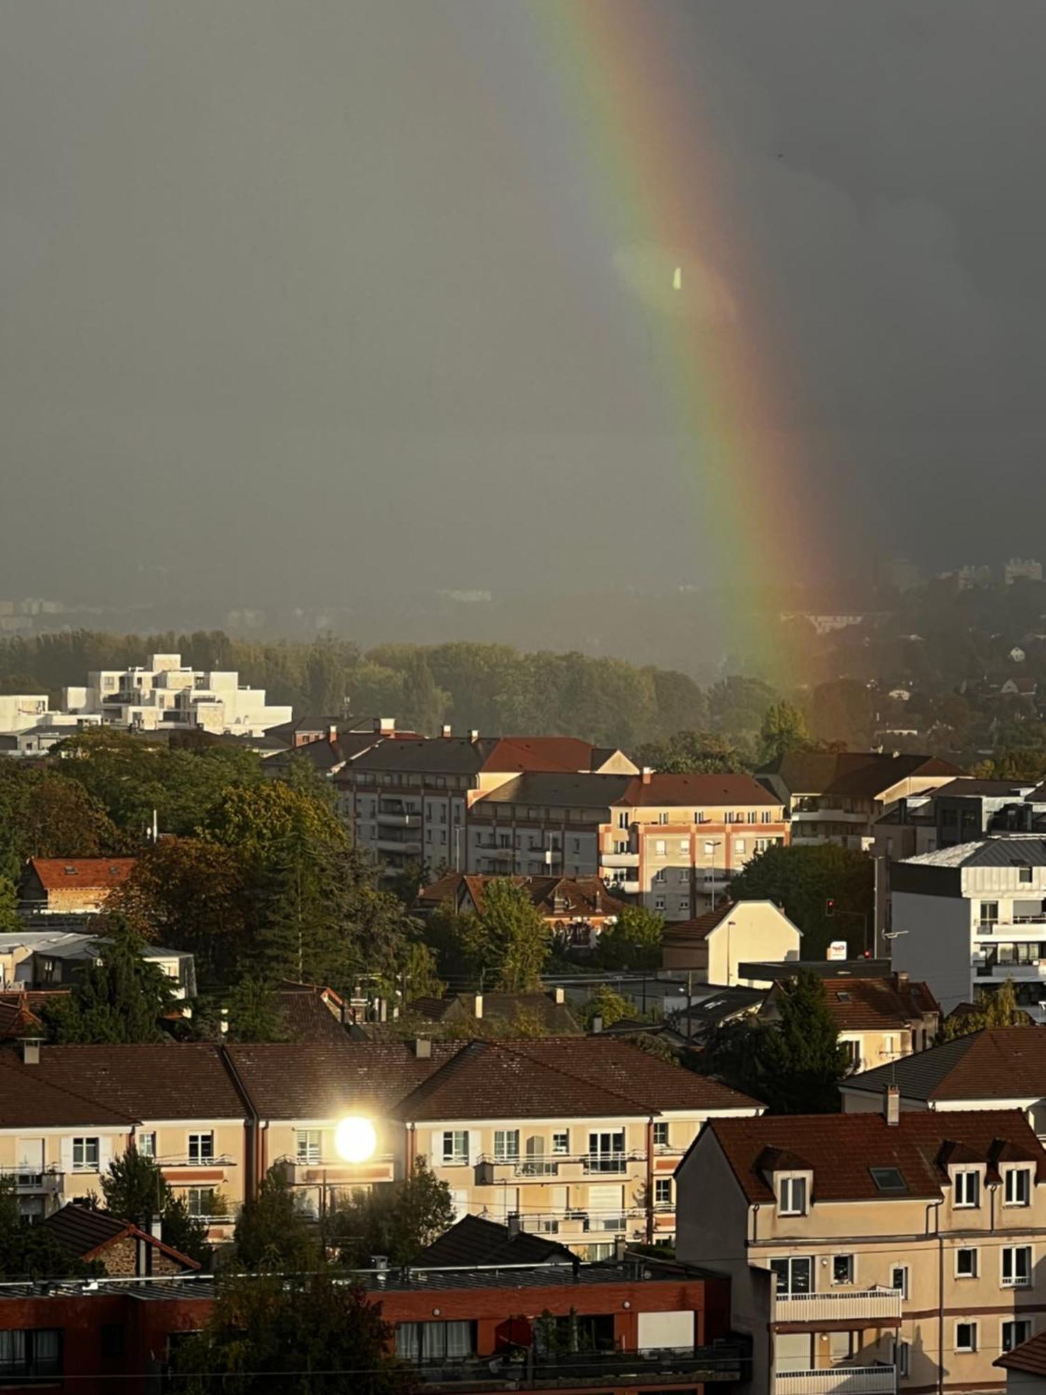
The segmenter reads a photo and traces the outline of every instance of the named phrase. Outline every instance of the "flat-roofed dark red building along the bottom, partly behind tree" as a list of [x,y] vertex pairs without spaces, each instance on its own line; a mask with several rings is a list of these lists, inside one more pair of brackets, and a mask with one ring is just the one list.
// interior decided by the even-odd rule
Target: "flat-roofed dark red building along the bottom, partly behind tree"
[[[531,1240],[534,1237],[530,1237]],[[536,1395],[642,1389],[690,1395],[743,1387],[749,1346],[729,1331],[729,1282],[672,1260],[453,1265],[347,1275],[381,1304],[389,1350],[438,1392]],[[250,1278],[245,1282],[251,1282]],[[0,1292],[4,1381],[75,1384],[84,1395],[166,1388],[184,1335],[213,1311],[209,1276],[162,1283],[98,1278]]]

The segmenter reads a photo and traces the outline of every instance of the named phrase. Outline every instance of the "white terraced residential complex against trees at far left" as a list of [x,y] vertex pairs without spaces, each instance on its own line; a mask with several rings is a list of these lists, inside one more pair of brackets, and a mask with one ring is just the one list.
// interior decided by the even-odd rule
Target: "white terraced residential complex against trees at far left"
[[291,716],[289,706],[269,706],[264,688],[243,686],[237,672],[187,668],[181,654],[151,654],[142,668],[89,672],[82,688],[63,689],[57,711],[39,693],[0,698],[0,731],[24,738],[20,755],[47,749],[74,727],[261,737]]

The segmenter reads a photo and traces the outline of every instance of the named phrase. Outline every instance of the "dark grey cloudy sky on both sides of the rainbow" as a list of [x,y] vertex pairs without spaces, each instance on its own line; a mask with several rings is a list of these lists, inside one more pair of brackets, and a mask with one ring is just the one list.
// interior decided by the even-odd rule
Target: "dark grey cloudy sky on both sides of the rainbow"
[[[1040,552],[1046,4],[640,3],[841,551]],[[538,31],[524,0],[0,3],[0,594],[704,579]]]

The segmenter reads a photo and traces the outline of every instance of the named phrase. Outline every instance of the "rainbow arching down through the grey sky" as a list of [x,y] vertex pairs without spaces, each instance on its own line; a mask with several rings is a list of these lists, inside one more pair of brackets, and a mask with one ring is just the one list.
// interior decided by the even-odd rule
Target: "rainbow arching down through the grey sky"
[[[556,73],[596,226],[647,318],[667,430],[683,442],[702,573],[763,597],[823,580],[830,533],[789,430],[801,399],[789,381],[795,356],[773,328],[729,170],[695,81],[668,49],[657,0],[526,0],[524,8],[536,57]],[[781,608],[789,604],[782,596]],[[742,603],[720,639],[724,651],[760,654],[781,674],[784,633],[777,607]]]

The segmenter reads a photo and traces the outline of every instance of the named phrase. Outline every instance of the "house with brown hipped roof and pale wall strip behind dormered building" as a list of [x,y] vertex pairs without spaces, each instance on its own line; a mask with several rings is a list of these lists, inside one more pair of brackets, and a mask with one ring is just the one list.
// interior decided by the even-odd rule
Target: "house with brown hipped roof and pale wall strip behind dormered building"
[[888,1085],[897,1085],[901,1109],[1021,1109],[1046,1138],[1046,1032],[1035,1028],[986,1028],[848,1076],[840,1085],[844,1110],[879,1109]]

